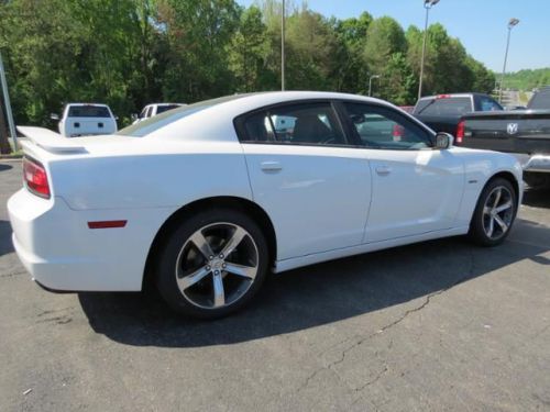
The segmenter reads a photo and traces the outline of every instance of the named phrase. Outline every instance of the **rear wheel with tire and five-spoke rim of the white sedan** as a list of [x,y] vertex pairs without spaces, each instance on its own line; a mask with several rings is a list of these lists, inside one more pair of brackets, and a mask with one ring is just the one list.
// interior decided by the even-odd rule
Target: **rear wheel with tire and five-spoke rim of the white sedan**
[[[220,258],[224,249],[231,248],[228,241],[241,234],[242,241]],[[206,242],[199,248],[196,241],[201,236]],[[205,249],[213,255],[207,257],[210,253]],[[157,256],[155,279],[164,300],[180,314],[209,320],[227,316],[248,304],[265,281],[270,263],[267,242],[258,225],[246,214],[230,209],[208,209],[183,220],[166,237]],[[244,268],[242,274],[246,275],[255,270],[255,276],[229,271],[235,268]],[[222,293],[216,293],[220,281]],[[223,298],[218,299],[220,296]],[[221,307],[220,301],[224,302]]]

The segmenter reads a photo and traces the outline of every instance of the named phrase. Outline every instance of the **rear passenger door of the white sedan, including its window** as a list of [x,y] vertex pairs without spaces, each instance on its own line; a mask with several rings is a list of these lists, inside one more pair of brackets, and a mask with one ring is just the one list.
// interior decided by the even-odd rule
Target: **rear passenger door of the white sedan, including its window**
[[371,169],[330,101],[272,107],[235,124],[254,201],[277,229],[279,259],[362,243]]

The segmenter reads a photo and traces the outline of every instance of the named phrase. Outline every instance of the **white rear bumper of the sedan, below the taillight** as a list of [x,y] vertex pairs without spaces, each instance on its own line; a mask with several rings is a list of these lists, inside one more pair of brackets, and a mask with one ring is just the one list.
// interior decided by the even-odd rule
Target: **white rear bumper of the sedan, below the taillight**
[[[75,211],[62,198],[25,189],[8,201],[15,252],[36,282],[56,291],[138,291],[164,213]],[[125,227],[90,230],[88,222],[127,220]],[[141,225],[140,223],[143,223]]]

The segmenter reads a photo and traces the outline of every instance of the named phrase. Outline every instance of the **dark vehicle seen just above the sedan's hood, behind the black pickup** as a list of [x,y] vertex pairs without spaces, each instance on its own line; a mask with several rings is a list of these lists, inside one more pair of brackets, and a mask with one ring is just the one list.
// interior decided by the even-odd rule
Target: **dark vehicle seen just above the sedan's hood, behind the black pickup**
[[457,132],[459,120],[470,112],[501,111],[503,107],[483,93],[453,93],[424,97],[415,105],[413,115],[436,132]]

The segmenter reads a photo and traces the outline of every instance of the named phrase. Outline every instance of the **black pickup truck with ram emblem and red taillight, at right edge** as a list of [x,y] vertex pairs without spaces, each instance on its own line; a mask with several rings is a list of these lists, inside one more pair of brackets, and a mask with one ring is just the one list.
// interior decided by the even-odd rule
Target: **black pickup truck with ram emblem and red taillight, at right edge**
[[463,115],[454,143],[510,153],[529,186],[550,187],[550,86],[534,94],[527,110]]

